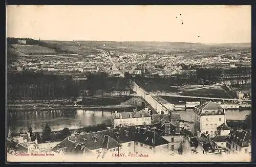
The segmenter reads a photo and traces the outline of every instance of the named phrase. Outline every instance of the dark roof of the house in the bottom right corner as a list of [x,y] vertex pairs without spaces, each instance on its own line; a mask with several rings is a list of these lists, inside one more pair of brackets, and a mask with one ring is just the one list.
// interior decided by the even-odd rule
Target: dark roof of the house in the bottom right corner
[[240,147],[248,147],[251,142],[251,132],[249,130],[237,130],[226,137],[226,140],[229,142],[233,141]]

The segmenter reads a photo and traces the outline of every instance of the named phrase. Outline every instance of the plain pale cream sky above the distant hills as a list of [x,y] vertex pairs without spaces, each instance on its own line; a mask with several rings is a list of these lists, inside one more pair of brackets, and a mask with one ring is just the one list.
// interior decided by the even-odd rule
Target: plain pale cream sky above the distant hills
[[41,40],[251,42],[251,6],[11,5],[7,6],[6,12],[7,37]]

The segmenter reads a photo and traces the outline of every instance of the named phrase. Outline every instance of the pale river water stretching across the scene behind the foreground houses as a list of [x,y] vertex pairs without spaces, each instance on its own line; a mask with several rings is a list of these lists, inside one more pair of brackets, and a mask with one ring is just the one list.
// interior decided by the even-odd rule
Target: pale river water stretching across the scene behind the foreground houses
[[[125,109],[129,111],[131,109]],[[233,110],[226,111],[226,119],[228,120],[244,120],[250,110]],[[192,109],[186,111],[173,111],[179,113],[185,121],[194,121]],[[33,132],[40,132],[46,123],[51,127],[52,131],[59,131],[67,127],[76,129],[79,127],[81,120],[82,126],[93,126],[104,122],[111,116],[111,111],[93,111],[92,110],[54,110],[54,111],[18,111],[8,112],[8,127],[11,132],[26,132],[31,126]]]

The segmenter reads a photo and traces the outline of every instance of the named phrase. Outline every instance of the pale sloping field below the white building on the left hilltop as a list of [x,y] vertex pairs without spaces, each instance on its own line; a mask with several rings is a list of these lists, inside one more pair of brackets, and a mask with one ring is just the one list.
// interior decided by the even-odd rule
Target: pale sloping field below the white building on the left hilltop
[[55,55],[57,52],[48,47],[38,45],[15,45],[15,49],[25,55]]

